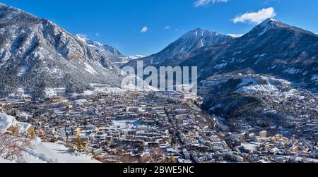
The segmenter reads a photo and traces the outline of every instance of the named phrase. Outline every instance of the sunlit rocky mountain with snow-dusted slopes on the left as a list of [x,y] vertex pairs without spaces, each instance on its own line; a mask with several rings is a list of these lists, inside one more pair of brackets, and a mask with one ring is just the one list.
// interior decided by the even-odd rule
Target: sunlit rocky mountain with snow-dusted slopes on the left
[[42,94],[48,87],[75,92],[90,83],[119,85],[121,74],[106,54],[52,21],[0,4],[0,78],[1,94],[19,88]]

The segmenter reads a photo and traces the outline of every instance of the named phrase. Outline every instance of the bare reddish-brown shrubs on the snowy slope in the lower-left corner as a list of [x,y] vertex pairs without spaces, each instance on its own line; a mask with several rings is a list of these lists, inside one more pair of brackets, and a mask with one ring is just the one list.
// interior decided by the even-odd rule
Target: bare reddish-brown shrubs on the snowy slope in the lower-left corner
[[21,162],[23,152],[31,149],[30,140],[25,138],[13,137],[11,135],[0,134],[0,157],[9,161]]

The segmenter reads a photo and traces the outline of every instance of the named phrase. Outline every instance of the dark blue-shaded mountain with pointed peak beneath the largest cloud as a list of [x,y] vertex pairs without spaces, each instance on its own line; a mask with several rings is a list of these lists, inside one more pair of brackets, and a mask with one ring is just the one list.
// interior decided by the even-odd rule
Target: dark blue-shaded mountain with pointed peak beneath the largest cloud
[[181,66],[198,66],[199,80],[221,73],[270,74],[317,91],[318,35],[273,19],[192,54]]

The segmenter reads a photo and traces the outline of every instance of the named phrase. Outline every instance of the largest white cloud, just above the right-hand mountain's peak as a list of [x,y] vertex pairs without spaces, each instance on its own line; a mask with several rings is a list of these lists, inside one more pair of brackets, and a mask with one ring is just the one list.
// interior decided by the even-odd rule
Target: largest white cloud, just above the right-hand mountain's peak
[[258,12],[244,13],[233,19],[234,23],[254,23],[259,24],[267,18],[273,18],[276,16],[275,9],[273,7],[263,8]]

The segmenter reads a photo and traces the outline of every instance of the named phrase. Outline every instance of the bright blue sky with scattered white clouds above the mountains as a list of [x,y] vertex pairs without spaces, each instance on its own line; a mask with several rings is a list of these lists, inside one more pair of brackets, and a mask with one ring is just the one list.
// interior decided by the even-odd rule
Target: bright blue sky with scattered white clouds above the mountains
[[314,0],[2,0],[125,55],[156,53],[194,28],[243,34],[273,17],[318,33]]

